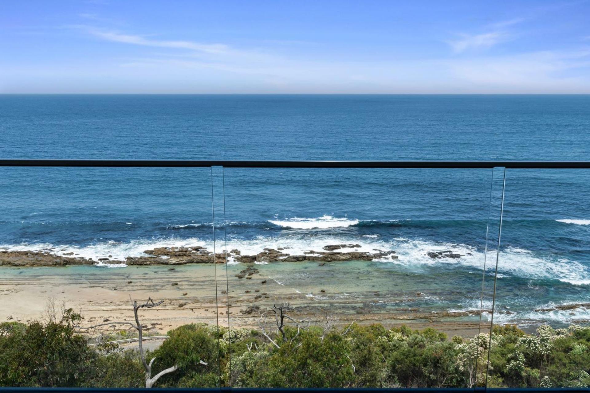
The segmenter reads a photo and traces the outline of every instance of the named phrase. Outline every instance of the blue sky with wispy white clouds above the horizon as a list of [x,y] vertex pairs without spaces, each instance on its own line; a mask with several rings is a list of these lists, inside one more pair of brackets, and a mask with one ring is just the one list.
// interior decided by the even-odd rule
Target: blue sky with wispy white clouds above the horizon
[[0,93],[590,93],[589,1],[4,1]]

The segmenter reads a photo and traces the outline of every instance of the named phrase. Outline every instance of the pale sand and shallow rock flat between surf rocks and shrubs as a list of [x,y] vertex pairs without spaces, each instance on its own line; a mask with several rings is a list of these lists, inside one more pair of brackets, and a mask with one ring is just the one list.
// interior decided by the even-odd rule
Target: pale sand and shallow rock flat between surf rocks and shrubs
[[[132,321],[130,298],[142,302],[151,297],[164,302],[157,308],[142,309],[140,320],[150,332],[160,334],[196,322],[257,328],[260,313],[281,302],[291,303],[294,311],[290,315],[310,321],[320,322],[330,313],[340,325],[352,321],[407,324],[412,328],[430,326],[449,336],[477,334],[477,311],[448,313],[449,306],[440,304],[444,296],[439,285],[417,282],[409,273],[384,277],[375,266],[368,262],[322,266],[315,262],[240,263],[227,266],[227,276],[225,265],[213,264],[4,266],[0,270],[0,321],[41,319],[51,298],[80,311],[84,326]],[[474,279],[473,289],[475,284]],[[417,292],[417,286],[423,288],[422,292]],[[473,296],[471,289],[469,296]],[[451,292],[461,290],[467,292],[464,288]],[[117,325],[113,329],[120,328]],[[484,318],[481,330],[485,329],[489,329],[489,323]]]

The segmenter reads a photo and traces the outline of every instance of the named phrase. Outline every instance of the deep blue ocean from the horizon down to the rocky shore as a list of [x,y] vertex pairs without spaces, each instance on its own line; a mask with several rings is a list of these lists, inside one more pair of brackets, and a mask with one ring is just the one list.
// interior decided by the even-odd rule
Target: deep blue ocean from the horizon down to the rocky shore
[[[590,160],[590,95],[0,95],[0,157]],[[501,169],[221,175],[0,168],[0,246],[124,257],[210,243],[225,191],[228,248],[354,242],[397,250],[392,268],[470,271],[483,264],[490,185],[497,246]],[[589,180],[585,170],[507,171],[504,288],[551,289],[535,304],[590,301]],[[441,249],[472,255],[425,256]]]

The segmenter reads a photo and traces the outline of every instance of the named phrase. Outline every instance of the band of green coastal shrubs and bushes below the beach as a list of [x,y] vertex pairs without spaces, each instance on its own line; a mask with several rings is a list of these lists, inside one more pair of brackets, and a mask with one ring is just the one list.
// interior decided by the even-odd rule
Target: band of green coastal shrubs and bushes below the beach
[[297,321],[291,310],[266,310],[257,329],[183,325],[151,350],[122,348],[113,336],[89,346],[96,336],[72,309],[4,322],[0,385],[145,387],[159,375],[155,387],[474,387],[486,384],[490,351],[489,387],[590,386],[590,327],[542,325],[527,335],[506,325],[491,336],[449,338],[432,328],[342,325],[329,314]]

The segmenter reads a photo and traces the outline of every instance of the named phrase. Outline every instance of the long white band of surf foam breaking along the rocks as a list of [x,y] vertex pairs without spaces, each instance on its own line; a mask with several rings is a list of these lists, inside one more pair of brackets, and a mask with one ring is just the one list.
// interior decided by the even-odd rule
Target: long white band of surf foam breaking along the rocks
[[[264,248],[278,249],[282,247],[283,252],[290,255],[304,255],[304,252],[314,250],[323,251],[323,246],[342,243],[354,243],[359,247],[342,249],[341,251],[356,251],[374,253],[378,250],[395,250],[397,259],[391,256],[384,256],[376,259],[383,263],[393,263],[407,267],[420,266],[466,266],[469,268],[483,268],[484,253],[474,247],[442,242],[427,242],[425,240],[397,240],[385,241],[382,238],[357,237],[343,238],[342,236],[322,235],[314,236],[309,234],[294,233],[290,236],[257,236],[251,240],[227,239],[227,249],[238,249],[241,255],[257,255]],[[55,255],[64,255],[73,252],[73,257],[86,257],[98,261],[99,258],[110,257],[110,260],[124,261],[127,256],[147,256],[144,250],[155,247],[189,247],[203,246],[213,250],[211,241],[204,241],[197,238],[189,239],[154,239],[154,240],[132,240],[131,242],[102,242],[94,245],[78,247],[71,245],[51,245],[48,243],[21,244],[21,245],[0,245],[9,251],[32,250],[51,252]],[[217,242],[217,249],[225,249],[225,242]],[[429,251],[453,250],[461,255],[460,258],[432,259],[427,255]],[[230,257],[230,263],[238,263]],[[490,272],[496,263],[496,251],[489,251],[487,255],[487,269]],[[97,265],[122,266],[117,263],[101,261]],[[508,247],[500,252],[499,272],[502,276],[520,276],[525,278],[552,278],[573,285],[590,285],[590,269],[576,260],[558,258],[551,255],[538,255],[530,250],[516,247]],[[475,272],[477,273],[477,272]]]

